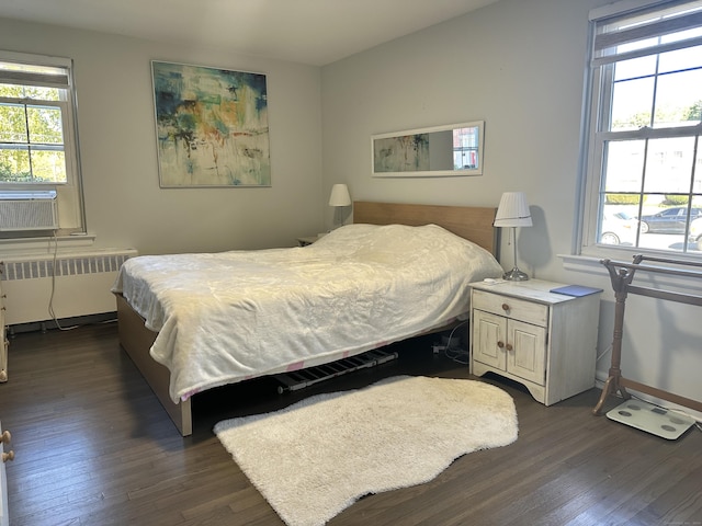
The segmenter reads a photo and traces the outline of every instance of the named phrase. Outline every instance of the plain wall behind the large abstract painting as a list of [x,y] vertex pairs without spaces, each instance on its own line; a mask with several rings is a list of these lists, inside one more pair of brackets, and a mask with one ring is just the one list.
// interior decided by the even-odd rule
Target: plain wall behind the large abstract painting
[[[294,245],[320,231],[320,70],[0,19],[0,48],[75,60],[88,229],[140,253]],[[159,188],[150,60],[267,75],[270,188]]]

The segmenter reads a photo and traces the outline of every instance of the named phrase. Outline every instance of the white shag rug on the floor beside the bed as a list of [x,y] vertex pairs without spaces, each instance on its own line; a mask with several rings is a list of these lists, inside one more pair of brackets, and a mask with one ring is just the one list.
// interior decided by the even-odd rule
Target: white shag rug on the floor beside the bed
[[476,380],[398,376],[215,425],[290,526],[322,525],[369,493],[428,482],[466,453],[517,439],[517,411]]

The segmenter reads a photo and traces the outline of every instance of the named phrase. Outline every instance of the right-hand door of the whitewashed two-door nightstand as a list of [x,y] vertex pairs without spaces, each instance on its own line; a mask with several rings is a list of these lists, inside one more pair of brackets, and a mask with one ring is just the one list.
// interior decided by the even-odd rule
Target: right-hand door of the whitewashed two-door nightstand
[[546,329],[509,320],[507,370],[541,386],[546,382]]

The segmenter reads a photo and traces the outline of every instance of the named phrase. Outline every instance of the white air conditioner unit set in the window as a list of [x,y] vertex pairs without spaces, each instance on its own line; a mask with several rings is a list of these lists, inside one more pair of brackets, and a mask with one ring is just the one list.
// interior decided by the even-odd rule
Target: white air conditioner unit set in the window
[[0,232],[56,229],[58,213],[55,192],[0,195]]

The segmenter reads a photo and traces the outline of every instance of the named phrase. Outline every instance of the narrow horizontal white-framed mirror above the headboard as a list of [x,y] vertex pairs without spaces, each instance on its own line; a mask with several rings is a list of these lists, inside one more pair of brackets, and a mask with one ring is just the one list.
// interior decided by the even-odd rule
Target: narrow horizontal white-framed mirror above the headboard
[[371,137],[375,178],[483,175],[485,122],[408,129]]

